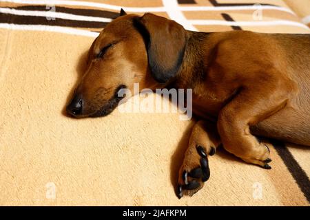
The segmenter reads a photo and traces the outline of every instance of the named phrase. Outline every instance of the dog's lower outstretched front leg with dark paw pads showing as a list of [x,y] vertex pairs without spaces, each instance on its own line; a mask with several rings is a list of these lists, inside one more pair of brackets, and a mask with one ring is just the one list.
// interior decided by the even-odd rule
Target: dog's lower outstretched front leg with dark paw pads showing
[[178,197],[194,195],[210,176],[207,155],[214,155],[220,145],[216,124],[198,121],[189,138],[189,146],[178,173]]

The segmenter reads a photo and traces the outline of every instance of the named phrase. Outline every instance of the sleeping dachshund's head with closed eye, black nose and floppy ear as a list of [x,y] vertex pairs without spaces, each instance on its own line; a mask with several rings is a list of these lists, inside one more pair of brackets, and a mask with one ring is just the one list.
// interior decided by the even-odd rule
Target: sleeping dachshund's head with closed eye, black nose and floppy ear
[[94,40],[87,70],[67,112],[76,118],[108,115],[123,98],[123,88],[154,89],[176,76],[183,61],[186,31],[178,23],[145,14],[125,14],[109,23]]

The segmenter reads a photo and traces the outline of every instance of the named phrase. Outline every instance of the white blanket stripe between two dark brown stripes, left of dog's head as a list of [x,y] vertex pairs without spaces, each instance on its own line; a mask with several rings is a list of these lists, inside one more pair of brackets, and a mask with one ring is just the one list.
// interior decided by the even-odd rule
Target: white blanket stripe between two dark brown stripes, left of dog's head
[[10,8],[0,8],[0,13],[4,14],[16,14],[22,16],[37,16],[55,19],[68,19],[74,21],[99,21],[99,22],[111,22],[112,19],[101,18],[101,17],[89,17],[75,14],[68,14],[62,12],[52,11],[28,11],[28,10],[15,10]]

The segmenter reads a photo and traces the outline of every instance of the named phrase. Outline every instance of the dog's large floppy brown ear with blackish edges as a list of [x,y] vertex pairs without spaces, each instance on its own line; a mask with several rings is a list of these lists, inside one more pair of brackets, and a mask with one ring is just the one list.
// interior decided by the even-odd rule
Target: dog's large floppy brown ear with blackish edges
[[175,21],[144,14],[134,20],[147,47],[147,57],[152,76],[159,83],[166,83],[176,76],[186,45],[186,31]]

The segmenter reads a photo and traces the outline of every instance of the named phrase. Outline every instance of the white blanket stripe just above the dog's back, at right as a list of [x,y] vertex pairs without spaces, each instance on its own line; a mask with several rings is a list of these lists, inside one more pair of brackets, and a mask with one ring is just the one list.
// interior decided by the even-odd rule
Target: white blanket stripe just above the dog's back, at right
[[275,26],[288,25],[308,29],[307,25],[296,21],[278,20],[278,21],[220,21],[220,20],[189,20],[193,25],[229,25],[229,26]]

